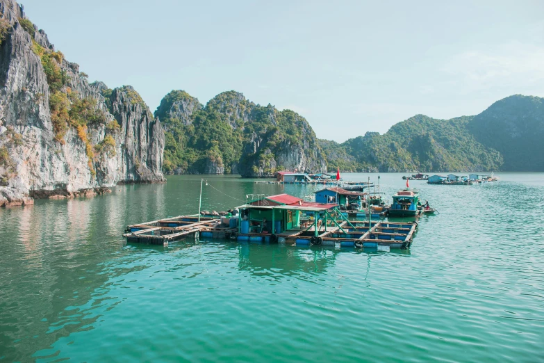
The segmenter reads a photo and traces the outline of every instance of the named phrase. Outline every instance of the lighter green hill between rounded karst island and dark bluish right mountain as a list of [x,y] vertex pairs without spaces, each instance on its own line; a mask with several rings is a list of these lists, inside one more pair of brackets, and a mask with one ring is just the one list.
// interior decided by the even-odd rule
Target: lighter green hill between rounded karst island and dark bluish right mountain
[[[380,172],[499,170],[502,156],[470,134],[470,120],[472,117],[436,120],[415,115],[395,124],[384,135],[367,132],[365,136],[332,145],[326,149],[329,169],[340,166]],[[354,160],[346,164],[342,153],[353,156]]]

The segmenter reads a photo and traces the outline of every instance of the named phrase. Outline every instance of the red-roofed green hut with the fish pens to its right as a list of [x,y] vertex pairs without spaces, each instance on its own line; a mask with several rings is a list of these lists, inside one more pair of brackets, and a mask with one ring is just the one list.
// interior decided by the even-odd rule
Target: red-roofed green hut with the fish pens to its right
[[[277,204],[272,205],[274,200]],[[236,239],[240,242],[406,249],[418,227],[415,222],[352,221],[337,204],[297,201],[282,195],[238,208],[242,219]],[[306,218],[308,213],[313,216]]]

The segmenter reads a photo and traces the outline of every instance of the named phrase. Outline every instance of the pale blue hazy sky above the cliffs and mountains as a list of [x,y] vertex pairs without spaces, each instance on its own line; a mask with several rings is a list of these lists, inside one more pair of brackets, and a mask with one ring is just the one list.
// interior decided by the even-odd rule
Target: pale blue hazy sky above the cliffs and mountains
[[544,1],[20,3],[90,81],[131,85],[151,111],[170,90],[236,90],[343,142],[544,97]]

